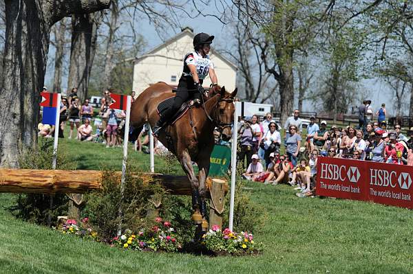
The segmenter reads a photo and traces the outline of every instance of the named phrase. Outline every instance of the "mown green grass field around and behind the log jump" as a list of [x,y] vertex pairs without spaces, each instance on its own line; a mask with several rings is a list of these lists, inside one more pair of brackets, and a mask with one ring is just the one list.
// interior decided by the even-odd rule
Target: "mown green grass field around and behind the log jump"
[[[121,148],[62,141],[78,168],[120,170]],[[147,168],[149,155],[130,152]],[[165,165],[156,159],[156,165]],[[169,167],[180,172],[178,165]],[[262,255],[218,257],[123,251],[13,218],[0,194],[1,273],[413,273],[410,210],[329,198],[297,198],[292,187],[247,183],[269,212],[255,240]]]

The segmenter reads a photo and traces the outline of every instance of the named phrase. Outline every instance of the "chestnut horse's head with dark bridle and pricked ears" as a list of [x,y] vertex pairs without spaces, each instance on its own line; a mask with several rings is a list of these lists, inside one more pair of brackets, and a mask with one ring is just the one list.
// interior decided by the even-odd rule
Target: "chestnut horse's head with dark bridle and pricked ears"
[[237,89],[232,93],[226,92],[225,87],[220,88],[218,104],[216,111],[213,113],[213,119],[221,132],[222,139],[228,141],[231,139],[231,126],[234,121],[234,98],[237,95]]

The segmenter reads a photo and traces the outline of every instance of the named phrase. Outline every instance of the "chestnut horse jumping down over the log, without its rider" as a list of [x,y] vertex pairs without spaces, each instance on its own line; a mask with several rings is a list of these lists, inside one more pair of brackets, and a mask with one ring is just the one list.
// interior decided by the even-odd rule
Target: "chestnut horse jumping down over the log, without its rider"
[[[205,219],[207,205],[205,203],[205,180],[209,172],[209,159],[214,146],[213,130],[218,127],[224,140],[231,138],[233,123],[233,100],[237,89],[228,93],[225,88],[213,87],[211,97],[199,106],[189,109],[173,125],[160,130],[158,139],[169,151],[173,152],[187,174],[192,187],[192,220],[202,224],[202,230],[208,229]],[[139,133],[145,123],[151,128],[160,118],[157,107],[163,100],[174,96],[172,87],[165,82],[151,85],[140,93],[131,106],[131,126]],[[198,164],[198,178],[192,168],[192,161]]]

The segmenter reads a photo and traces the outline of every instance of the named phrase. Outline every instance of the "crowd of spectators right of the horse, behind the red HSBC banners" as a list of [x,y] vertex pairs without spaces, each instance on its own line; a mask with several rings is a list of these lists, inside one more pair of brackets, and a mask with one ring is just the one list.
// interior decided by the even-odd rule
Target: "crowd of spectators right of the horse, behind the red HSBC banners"
[[399,124],[388,128],[385,104],[375,113],[374,121],[370,100],[363,102],[358,114],[358,126],[343,127],[328,126],[325,120],[317,124],[312,116],[303,131],[303,120],[295,110],[286,119],[284,134],[271,113],[261,117],[261,122],[257,115],[244,117],[237,153],[246,168],[244,178],[266,185],[293,185],[299,190],[297,196],[306,197],[315,195],[319,156],[413,165],[413,128],[406,136]]

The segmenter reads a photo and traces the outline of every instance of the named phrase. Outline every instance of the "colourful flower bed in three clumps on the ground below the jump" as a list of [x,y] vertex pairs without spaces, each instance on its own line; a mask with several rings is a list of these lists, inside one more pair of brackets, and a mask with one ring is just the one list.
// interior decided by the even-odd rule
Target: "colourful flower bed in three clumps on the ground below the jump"
[[[79,225],[76,220],[67,220],[58,229],[65,234],[99,241],[98,233],[88,224],[88,218],[81,220]],[[127,229],[122,235],[112,238],[109,244],[111,247],[136,251],[187,252],[182,249],[184,242],[189,243],[191,240],[184,241],[178,238],[171,223],[158,217],[156,225],[150,229],[141,229],[137,233]],[[229,229],[222,231],[220,227],[214,225],[202,236],[200,250],[195,253],[253,255],[260,253],[261,250],[262,243],[255,243],[253,234],[244,231],[236,233]]]

